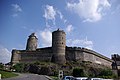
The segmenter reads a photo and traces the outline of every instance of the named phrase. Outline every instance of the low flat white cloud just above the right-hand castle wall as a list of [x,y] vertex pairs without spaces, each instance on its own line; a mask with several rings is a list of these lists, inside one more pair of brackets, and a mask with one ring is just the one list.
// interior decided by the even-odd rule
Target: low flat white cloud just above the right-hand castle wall
[[87,49],[93,49],[93,42],[86,39],[68,39],[68,46],[77,46],[77,47],[85,47]]

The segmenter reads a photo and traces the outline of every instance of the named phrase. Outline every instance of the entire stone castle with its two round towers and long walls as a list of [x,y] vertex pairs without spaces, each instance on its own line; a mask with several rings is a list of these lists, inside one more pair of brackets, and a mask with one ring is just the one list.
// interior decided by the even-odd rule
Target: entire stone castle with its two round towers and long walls
[[38,38],[32,33],[28,40],[26,50],[12,50],[11,63],[30,63],[48,61],[65,64],[67,61],[89,61],[111,67],[113,60],[93,50],[81,47],[67,47],[66,33],[63,30],[52,32],[52,47],[37,48]]

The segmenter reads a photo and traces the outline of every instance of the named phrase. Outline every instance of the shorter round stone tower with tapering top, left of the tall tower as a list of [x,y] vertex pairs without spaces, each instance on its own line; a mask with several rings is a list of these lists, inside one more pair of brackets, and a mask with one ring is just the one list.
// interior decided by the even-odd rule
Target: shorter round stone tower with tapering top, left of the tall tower
[[37,49],[37,37],[35,36],[35,33],[32,33],[28,40],[27,40],[27,46],[26,46],[26,50],[28,51],[33,51]]

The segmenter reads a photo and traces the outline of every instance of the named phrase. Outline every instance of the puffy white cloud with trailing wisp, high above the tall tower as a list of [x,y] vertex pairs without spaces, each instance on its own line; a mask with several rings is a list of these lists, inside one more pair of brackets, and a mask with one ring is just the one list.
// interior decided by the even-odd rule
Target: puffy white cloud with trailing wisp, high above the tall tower
[[61,19],[64,23],[67,22],[67,20],[64,18],[64,15],[51,5],[45,6],[43,17],[46,20],[46,27],[50,27],[50,25],[56,25],[56,19]]

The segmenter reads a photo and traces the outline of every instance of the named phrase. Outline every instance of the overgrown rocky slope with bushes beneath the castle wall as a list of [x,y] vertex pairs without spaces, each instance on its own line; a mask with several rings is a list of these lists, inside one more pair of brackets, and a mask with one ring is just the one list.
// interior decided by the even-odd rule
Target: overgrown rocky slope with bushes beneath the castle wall
[[59,70],[63,70],[64,75],[75,77],[116,78],[111,69],[88,62],[87,64],[86,62],[67,62],[63,65],[51,62],[18,63],[13,68],[16,72],[30,72],[50,76],[58,76]]

